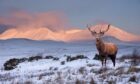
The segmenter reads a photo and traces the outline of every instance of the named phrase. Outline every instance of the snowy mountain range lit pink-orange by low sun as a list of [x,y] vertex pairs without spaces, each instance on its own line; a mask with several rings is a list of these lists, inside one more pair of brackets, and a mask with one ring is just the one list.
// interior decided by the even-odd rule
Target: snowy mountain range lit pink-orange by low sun
[[[92,27],[94,29],[94,26]],[[106,36],[114,37],[120,41],[140,41],[140,36],[128,33],[120,28],[110,26]],[[26,38],[31,40],[53,40],[63,42],[88,41],[94,39],[88,29],[71,29],[65,31],[51,31],[49,28],[26,28],[26,30],[11,28],[0,35],[0,39]]]

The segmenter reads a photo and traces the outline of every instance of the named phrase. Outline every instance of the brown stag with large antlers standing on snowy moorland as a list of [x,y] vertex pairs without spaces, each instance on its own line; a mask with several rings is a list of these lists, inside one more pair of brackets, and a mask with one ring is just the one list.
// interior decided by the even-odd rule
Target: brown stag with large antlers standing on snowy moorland
[[115,59],[116,59],[116,54],[118,51],[117,46],[114,43],[107,43],[104,42],[101,37],[109,30],[110,28],[110,24],[107,25],[107,29],[106,30],[101,30],[103,28],[103,26],[99,26],[98,28],[100,28],[99,32],[96,32],[95,29],[91,30],[91,25],[87,25],[88,30],[91,32],[92,36],[95,37],[96,39],[96,48],[99,52],[99,56],[101,56],[101,61],[102,61],[102,66],[105,63],[106,66],[106,60],[109,57],[112,62],[113,65],[115,67]]

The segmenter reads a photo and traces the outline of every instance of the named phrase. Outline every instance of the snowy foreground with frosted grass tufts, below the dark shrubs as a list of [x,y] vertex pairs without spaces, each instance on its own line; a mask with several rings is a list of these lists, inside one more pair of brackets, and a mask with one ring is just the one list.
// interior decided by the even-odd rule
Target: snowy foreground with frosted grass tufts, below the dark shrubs
[[[102,67],[100,60],[84,55],[24,58],[15,69],[0,70],[0,82],[4,84],[127,84],[140,83],[140,66],[117,59],[116,67],[108,60]],[[22,58],[23,59],[23,58]],[[28,61],[30,59],[30,61]],[[31,61],[33,60],[33,61]],[[127,59],[124,59],[127,60]],[[88,62],[87,62],[88,61]]]

